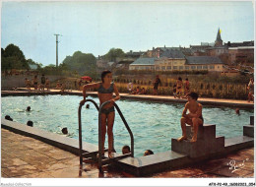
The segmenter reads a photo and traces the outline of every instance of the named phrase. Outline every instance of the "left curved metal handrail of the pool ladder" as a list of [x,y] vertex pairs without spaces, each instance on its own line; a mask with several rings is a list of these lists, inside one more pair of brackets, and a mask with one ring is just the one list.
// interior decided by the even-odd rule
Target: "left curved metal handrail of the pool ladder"
[[80,164],[83,164],[83,156],[82,156],[82,122],[81,122],[81,110],[82,110],[82,106],[87,102],[87,101],[91,101],[95,104],[96,109],[98,111],[99,107],[96,104],[96,101],[93,99],[86,99],[85,102],[83,104],[79,104],[79,108],[78,108],[78,126],[79,126],[79,156],[80,156]]

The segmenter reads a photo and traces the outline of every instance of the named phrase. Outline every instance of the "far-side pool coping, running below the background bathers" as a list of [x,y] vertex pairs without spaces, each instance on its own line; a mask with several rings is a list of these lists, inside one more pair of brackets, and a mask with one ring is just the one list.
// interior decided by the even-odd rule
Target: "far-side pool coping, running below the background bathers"
[[[51,90],[50,92],[45,93],[34,93],[28,92],[27,89],[21,88],[19,91],[2,91],[1,96],[19,96],[19,95],[47,95],[47,94],[69,94],[69,95],[83,95],[81,91],[70,91],[61,93],[58,90]],[[88,92],[88,95],[97,96],[96,92]],[[133,99],[133,100],[148,100],[155,102],[164,102],[164,103],[186,103],[186,99],[174,98],[170,95],[151,95],[151,94],[120,94],[121,98],[124,99]],[[206,98],[200,97],[198,102],[203,105],[212,105],[212,106],[228,106],[228,107],[239,107],[239,108],[249,108],[254,109],[254,103],[246,102],[244,100],[235,100],[235,99],[221,99],[221,98]]]

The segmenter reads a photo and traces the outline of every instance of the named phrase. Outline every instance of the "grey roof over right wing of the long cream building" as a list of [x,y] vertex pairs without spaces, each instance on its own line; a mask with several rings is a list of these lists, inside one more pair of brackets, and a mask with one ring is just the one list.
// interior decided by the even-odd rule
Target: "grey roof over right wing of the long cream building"
[[187,56],[186,64],[224,64],[217,56]]

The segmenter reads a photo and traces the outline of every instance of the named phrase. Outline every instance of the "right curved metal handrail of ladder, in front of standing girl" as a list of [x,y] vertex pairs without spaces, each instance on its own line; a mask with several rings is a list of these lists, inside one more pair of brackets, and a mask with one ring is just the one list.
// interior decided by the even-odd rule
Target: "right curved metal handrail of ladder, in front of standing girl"
[[[104,105],[108,104],[110,102],[110,100],[107,100],[105,102],[103,102],[100,107],[99,107],[99,110],[98,110],[98,167],[101,168],[101,165],[102,165],[102,140],[101,140],[101,137],[102,137],[102,131],[101,131],[101,112],[102,112],[102,108]],[[118,107],[118,105],[113,102],[113,105],[115,106],[115,108],[117,109],[126,129],[128,130],[129,134],[130,134],[130,137],[131,137],[131,156],[133,157],[134,156],[134,138],[133,138],[133,133],[129,127],[129,125],[127,124],[120,108]]]

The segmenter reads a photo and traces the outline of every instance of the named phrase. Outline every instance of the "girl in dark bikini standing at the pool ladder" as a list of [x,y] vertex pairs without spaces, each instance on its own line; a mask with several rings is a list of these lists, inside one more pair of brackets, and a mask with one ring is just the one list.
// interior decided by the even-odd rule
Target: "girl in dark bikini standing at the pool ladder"
[[[101,113],[101,132],[102,132],[102,153],[104,153],[104,142],[105,142],[105,133],[106,133],[106,123],[107,123],[107,136],[108,136],[108,157],[113,157],[113,124],[114,124],[114,106],[113,103],[120,98],[118,90],[115,84],[112,82],[112,73],[108,70],[105,70],[101,73],[101,83],[88,84],[83,87],[84,99],[81,100],[80,104],[84,104],[86,101],[86,94],[88,89],[96,88],[97,95],[99,98],[100,105],[110,100],[110,103],[106,104]],[[113,93],[116,97],[113,97]]]

